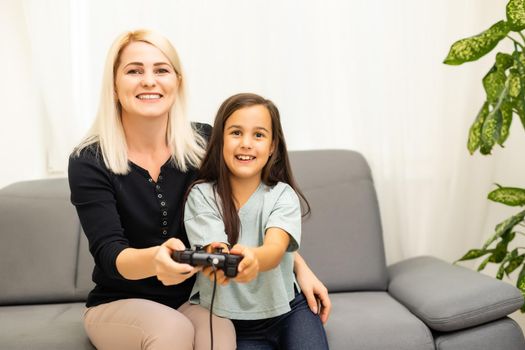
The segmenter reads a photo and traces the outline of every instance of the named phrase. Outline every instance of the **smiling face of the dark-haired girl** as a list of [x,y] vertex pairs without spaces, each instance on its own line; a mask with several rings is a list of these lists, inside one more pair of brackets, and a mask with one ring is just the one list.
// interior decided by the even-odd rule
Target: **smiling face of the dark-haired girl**
[[261,181],[261,174],[274,150],[272,119],[262,105],[236,110],[224,125],[222,156],[232,180]]

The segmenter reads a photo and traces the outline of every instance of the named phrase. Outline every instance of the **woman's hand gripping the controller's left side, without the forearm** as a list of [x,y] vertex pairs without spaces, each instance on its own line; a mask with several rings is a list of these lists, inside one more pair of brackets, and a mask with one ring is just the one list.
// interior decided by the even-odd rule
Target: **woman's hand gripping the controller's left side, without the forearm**
[[175,262],[171,258],[175,250],[184,250],[184,243],[179,239],[170,238],[159,247],[155,254],[155,274],[165,286],[182,283],[200,271],[200,268]]

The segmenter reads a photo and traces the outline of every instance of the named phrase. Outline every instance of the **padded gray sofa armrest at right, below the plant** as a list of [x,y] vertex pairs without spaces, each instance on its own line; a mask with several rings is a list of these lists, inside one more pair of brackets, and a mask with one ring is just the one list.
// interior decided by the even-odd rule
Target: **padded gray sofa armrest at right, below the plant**
[[429,256],[393,264],[388,273],[389,294],[437,331],[476,326],[523,305],[516,287]]

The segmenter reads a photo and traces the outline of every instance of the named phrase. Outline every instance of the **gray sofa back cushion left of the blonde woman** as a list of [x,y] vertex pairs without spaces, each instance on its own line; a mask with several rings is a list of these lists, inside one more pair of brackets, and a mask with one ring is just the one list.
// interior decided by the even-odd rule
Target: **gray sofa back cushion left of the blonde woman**
[[0,304],[85,300],[92,258],[66,179],[0,190]]

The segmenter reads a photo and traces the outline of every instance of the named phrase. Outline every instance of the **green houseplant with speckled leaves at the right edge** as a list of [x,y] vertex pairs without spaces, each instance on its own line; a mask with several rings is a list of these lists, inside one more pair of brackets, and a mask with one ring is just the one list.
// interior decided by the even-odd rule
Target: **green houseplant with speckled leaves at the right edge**
[[[517,116],[525,128],[525,0],[510,0],[506,6],[506,20],[501,20],[484,32],[456,41],[444,63],[460,65],[491,52],[502,40],[510,40],[514,51],[498,52],[492,68],[483,77],[486,101],[470,127],[467,148],[470,154],[479,151],[489,155],[498,144],[503,146],[509,136],[513,117]],[[508,206],[525,206],[525,189],[498,188],[488,199]],[[496,278],[502,279],[519,269],[516,286],[525,295],[525,247],[511,244],[517,235],[524,235],[525,210],[496,225],[495,232],[479,249],[469,250],[458,261],[482,258],[478,271],[487,264],[499,265]],[[525,305],[521,308],[525,312]]]

